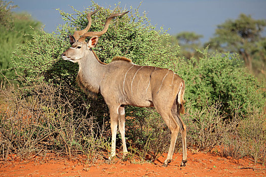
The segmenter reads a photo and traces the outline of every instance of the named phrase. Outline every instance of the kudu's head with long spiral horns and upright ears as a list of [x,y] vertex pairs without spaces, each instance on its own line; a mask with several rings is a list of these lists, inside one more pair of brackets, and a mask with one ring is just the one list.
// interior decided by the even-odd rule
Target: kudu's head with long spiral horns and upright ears
[[[93,11],[91,13],[88,13],[87,19],[88,19],[88,25],[85,29],[80,31],[75,31],[73,35],[68,35],[69,42],[71,44],[71,47],[67,49],[61,56],[64,60],[69,60],[71,62],[78,62],[80,59],[86,57],[88,51],[92,51],[91,48],[94,48],[98,43],[98,37],[103,35],[110,24],[110,21],[113,17],[118,17],[125,15],[127,12],[124,13],[117,13],[110,15],[104,24],[104,28],[102,31],[90,31],[87,32],[91,27],[91,15],[98,12],[100,9],[97,9],[96,11]],[[86,37],[91,37],[88,42],[85,41]]]

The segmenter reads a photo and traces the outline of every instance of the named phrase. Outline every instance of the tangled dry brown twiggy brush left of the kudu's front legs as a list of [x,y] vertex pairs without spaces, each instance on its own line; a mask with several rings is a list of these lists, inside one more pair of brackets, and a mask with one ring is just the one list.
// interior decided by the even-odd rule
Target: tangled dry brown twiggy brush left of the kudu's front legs
[[95,123],[82,95],[68,95],[49,84],[1,89],[1,159],[15,153],[29,159],[39,153],[98,156],[106,150],[106,129]]

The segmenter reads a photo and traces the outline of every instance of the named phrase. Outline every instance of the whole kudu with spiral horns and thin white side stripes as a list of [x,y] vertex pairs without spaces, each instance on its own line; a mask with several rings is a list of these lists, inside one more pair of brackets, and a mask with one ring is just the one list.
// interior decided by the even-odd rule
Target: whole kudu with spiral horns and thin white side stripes
[[[179,130],[183,149],[181,166],[185,166],[187,162],[186,126],[180,117],[180,113],[184,112],[184,81],[172,70],[138,66],[125,57],[115,57],[109,64],[102,63],[92,48],[97,45],[98,37],[107,31],[111,19],[128,12],[109,16],[102,31],[87,32],[91,26],[91,15],[97,11],[87,15],[88,25],[84,30],[75,31],[72,36],[69,35],[71,47],[62,54],[62,59],[77,62],[79,85],[94,96],[100,93],[108,105],[112,134],[109,159],[116,155],[118,123],[123,154],[126,155],[128,152],[125,140],[125,105],[155,107],[171,130],[170,148],[163,166],[167,166],[172,160]],[[88,36],[91,38],[85,42]]]

